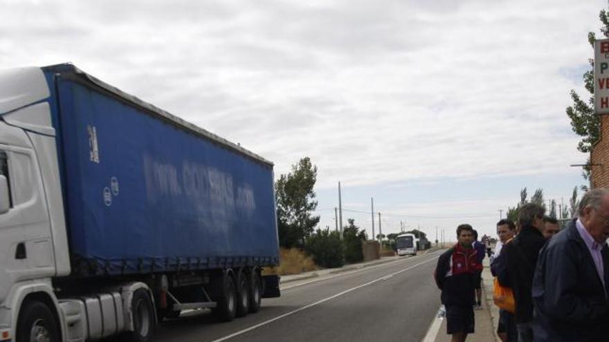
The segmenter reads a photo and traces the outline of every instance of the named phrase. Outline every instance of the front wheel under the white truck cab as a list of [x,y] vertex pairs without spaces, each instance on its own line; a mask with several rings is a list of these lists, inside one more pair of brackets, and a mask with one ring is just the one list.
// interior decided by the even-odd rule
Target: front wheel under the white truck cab
[[17,321],[17,342],[60,342],[55,316],[48,306],[39,301],[27,301]]

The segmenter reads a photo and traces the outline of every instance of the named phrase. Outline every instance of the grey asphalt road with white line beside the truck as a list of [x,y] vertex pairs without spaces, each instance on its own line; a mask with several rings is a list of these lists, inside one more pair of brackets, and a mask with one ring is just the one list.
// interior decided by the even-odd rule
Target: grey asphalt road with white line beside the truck
[[217,323],[195,312],[159,327],[156,342],[416,341],[439,307],[437,252],[299,285],[263,300],[257,314]]

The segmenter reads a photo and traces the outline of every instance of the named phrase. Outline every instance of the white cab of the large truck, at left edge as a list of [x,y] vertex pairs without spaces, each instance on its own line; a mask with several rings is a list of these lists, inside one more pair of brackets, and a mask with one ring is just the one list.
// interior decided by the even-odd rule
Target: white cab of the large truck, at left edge
[[40,310],[31,303],[55,327],[30,333],[60,332],[51,277],[70,263],[49,96],[40,68],[0,73],[0,341],[15,339],[22,305]]

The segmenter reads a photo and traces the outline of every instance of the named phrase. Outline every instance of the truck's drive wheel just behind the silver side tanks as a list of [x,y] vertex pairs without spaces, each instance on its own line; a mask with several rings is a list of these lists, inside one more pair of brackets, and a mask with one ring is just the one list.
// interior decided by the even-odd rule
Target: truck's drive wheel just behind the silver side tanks
[[127,332],[125,341],[148,342],[154,334],[154,310],[145,289],[138,289],[131,298],[131,315],[134,331]]

